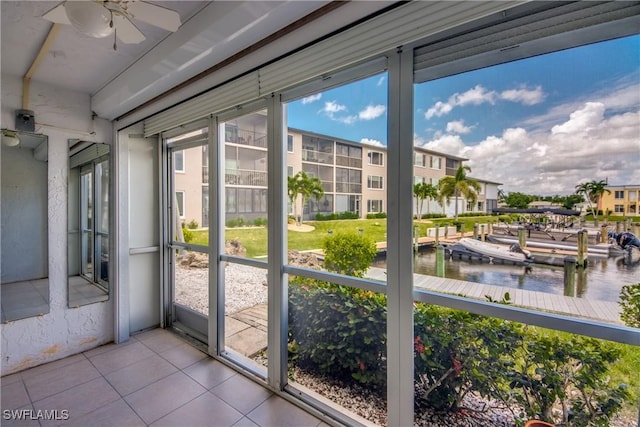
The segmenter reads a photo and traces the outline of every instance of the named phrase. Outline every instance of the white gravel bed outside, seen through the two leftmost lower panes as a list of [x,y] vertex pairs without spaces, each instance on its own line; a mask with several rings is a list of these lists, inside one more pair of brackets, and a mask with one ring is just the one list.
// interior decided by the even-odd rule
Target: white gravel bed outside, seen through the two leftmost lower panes
[[[225,314],[267,303],[267,270],[226,263]],[[209,269],[176,267],[175,300],[203,314],[209,307]]]

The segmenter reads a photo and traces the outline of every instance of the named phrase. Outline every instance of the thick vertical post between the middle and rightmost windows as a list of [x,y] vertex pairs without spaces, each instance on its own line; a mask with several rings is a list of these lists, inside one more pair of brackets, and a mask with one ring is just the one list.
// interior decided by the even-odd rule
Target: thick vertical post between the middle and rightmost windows
[[387,424],[413,425],[413,52],[389,58]]

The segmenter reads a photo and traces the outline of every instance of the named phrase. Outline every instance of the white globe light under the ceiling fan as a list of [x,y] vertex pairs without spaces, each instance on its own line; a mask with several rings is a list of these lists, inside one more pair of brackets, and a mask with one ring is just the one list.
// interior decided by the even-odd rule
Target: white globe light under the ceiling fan
[[113,33],[112,13],[93,1],[68,1],[64,4],[67,18],[78,31],[103,38]]

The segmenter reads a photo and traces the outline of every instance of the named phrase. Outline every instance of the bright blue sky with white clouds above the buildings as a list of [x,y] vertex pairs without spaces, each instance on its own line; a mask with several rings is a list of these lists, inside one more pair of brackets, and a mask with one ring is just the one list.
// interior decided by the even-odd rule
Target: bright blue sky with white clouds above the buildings
[[[289,126],[386,146],[387,76],[288,105]],[[414,144],[505,192],[640,185],[640,36],[414,85]]]

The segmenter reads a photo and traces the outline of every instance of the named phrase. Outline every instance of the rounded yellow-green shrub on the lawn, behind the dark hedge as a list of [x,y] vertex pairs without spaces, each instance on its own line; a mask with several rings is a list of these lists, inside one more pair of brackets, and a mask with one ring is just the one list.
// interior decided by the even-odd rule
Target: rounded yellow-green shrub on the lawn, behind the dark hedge
[[348,276],[363,277],[378,250],[368,237],[356,233],[338,233],[322,242],[324,266]]

